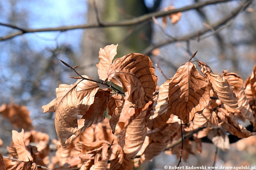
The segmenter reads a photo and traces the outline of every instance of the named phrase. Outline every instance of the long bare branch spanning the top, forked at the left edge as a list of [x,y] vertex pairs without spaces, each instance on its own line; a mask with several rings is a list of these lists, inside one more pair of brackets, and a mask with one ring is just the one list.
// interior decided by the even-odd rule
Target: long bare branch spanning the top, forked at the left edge
[[[89,28],[102,28],[102,27],[132,26],[135,24],[142,23],[144,21],[150,21],[153,16],[155,18],[159,18],[159,17],[163,17],[166,15],[170,15],[172,13],[188,11],[191,9],[198,9],[198,8],[202,8],[206,5],[217,4],[220,2],[228,2],[228,1],[233,1],[233,0],[208,0],[208,1],[198,2],[193,5],[188,5],[188,6],[185,6],[182,8],[177,8],[177,9],[173,9],[173,10],[169,10],[169,11],[153,12],[153,13],[145,14],[145,15],[142,15],[139,17],[135,17],[133,19],[127,19],[125,21],[119,21],[119,22],[100,22],[100,23],[94,23],[94,24],[81,24],[81,25],[76,25],[76,26],[62,26],[62,27],[39,28],[39,29],[24,29],[24,28],[20,28],[17,26],[13,26],[11,24],[0,23],[1,25],[6,26],[6,27],[19,29],[19,31],[17,31],[17,32],[7,34],[5,36],[0,37],[0,41],[7,40],[7,39],[10,39],[10,38],[13,38],[15,36],[25,34],[25,33],[65,31],[65,30],[72,30],[72,29],[89,29]],[[98,17],[97,17],[97,19],[98,19]]]

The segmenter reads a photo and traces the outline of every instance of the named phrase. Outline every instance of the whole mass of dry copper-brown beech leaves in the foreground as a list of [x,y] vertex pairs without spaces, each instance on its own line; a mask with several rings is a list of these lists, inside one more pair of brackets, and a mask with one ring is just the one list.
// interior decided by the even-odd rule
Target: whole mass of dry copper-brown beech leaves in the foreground
[[[51,163],[49,137],[35,137],[40,132],[22,130],[13,131],[13,143],[8,147],[10,156],[20,161],[0,155],[0,165],[10,170],[41,169],[46,164],[50,169],[131,170],[163,151],[178,157],[181,134],[193,134],[199,128],[201,131],[193,135],[198,153],[202,137],[226,150],[226,132],[239,138],[256,134],[239,123],[255,124],[256,66],[243,85],[239,75],[227,70],[214,74],[206,63],[195,61],[201,74],[190,59],[158,87],[148,56],[130,53],[112,62],[116,51],[113,44],[100,49],[96,66],[103,83],[82,75],[75,84],[60,84],[57,97],[42,107],[44,112],[55,112],[59,140],[53,140],[58,149]],[[108,81],[123,87],[125,96],[111,85],[100,88]],[[110,120],[105,119],[106,110]],[[192,153],[191,143],[190,138],[184,138],[184,160]]]

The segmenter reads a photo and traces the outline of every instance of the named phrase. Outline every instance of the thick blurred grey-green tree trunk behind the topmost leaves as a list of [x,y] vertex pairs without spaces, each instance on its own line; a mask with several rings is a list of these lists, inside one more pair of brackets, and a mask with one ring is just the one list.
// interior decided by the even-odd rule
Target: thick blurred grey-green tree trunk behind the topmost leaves
[[[97,16],[93,6],[93,0],[88,0],[87,23],[96,23]],[[152,8],[147,8],[144,0],[104,0],[97,1],[96,6],[101,21],[122,21],[137,16],[154,12],[159,7],[161,0],[156,0]],[[130,36],[126,36],[132,30]],[[142,23],[132,27],[113,27],[102,29],[87,29],[82,40],[81,65],[88,66],[84,72],[92,79],[98,79],[97,67],[98,51],[110,44],[117,44],[117,57],[128,53],[141,52],[150,45],[152,27],[151,23]],[[90,64],[93,64],[90,66]]]

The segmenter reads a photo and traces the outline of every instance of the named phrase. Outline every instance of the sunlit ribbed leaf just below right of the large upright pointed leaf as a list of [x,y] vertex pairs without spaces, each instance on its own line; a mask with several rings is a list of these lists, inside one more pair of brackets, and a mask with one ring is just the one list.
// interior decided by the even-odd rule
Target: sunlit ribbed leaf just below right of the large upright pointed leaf
[[203,111],[199,111],[194,115],[193,125],[191,130],[203,127],[217,127],[219,125],[217,114],[208,108],[204,108]]

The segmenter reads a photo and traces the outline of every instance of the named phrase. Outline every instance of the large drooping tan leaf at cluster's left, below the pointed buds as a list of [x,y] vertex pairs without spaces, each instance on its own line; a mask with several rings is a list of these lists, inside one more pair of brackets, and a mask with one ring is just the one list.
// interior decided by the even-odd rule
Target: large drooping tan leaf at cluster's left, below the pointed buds
[[[83,77],[90,79],[86,75]],[[60,84],[56,89],[55,102],[53,100],[42,107],[44,112],[56,108],[55,129],[59,138],[58,146],[65,148],[79,135],[82,127],[78,127],[77,115],[84,115],[88,111],[98,89],[99,85],[89,80],[78,80],[71,85]]]

